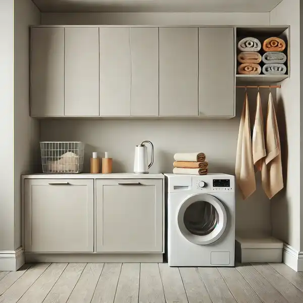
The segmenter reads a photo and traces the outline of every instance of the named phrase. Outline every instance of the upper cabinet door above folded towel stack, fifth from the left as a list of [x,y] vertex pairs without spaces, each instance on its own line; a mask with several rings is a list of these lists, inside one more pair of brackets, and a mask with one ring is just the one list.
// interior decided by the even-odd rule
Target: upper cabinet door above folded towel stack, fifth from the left
[[159,29],[160,116],[198,116],[198,29]]

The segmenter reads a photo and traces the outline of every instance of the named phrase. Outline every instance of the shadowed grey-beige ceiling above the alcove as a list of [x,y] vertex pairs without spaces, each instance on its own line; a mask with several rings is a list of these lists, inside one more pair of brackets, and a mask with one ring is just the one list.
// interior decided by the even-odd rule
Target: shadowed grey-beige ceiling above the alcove
[[282,0],[32,0],[41,12],[270,12]]

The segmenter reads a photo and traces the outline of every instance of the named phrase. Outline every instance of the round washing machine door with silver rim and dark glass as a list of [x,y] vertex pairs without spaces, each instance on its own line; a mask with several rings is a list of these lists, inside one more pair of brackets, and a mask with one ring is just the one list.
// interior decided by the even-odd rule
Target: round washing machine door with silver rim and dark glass
[[178,226],[190,242],[207,245],[217,241],[226,228],[227,215],[221,201],[207,193],[198,193],[183,201]]

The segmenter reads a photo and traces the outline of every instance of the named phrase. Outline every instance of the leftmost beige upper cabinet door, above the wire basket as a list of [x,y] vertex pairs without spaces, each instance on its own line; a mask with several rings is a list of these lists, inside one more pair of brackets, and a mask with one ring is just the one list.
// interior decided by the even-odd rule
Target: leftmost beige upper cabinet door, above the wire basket
[[31,29],[31,116],[64,115],[64,28]]

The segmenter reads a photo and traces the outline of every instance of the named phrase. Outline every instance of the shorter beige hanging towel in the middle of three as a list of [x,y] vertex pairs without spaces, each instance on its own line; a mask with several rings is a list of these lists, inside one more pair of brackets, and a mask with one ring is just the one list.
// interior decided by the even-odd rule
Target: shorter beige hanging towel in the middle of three
[[263,114],[261,107],[261,96],[258,91],[257,96],[257,110],[254,125],[254,132],[252,133],[252,158],[257,171],[262,170],[262,164],[266,157],[265,141],[264,141],[264,127],[263,127]]

